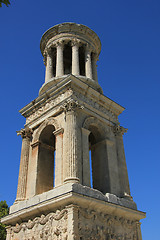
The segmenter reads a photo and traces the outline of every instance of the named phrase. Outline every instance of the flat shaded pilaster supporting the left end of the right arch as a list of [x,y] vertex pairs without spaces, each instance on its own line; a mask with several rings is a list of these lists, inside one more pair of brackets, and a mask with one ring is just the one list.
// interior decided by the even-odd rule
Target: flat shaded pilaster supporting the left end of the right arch
[[90,163],[89,163],[89,134],[90,131],[82,128],[82,158],[83,158],[83,181],[82,184],[90,187]]

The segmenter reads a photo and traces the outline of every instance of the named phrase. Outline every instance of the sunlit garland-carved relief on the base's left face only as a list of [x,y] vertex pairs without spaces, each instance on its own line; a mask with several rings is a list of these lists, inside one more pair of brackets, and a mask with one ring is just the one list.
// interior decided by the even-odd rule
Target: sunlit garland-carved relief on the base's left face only
[[67,210],[41,215],[7,230],[9,240],[67,240]]

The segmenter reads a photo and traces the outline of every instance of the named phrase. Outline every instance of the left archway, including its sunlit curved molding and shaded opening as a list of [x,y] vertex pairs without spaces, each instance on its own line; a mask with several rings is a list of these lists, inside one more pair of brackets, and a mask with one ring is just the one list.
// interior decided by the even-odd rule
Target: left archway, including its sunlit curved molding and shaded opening
[[56,162],[55,132],[59,129],[57,120],[49,118],[39,126],[33,136],[32,157],[37,162],[36,194],[47,192],[54,187]]

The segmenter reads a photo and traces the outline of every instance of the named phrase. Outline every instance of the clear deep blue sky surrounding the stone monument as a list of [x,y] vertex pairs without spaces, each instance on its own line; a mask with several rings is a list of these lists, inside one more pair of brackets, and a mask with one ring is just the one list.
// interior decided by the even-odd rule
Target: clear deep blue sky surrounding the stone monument
[[126,110],[124,136],[131,193],[142,221],[143,240],[159,238],[160,199],[160,1],[11,0],[0,9],[1,159],[0,200],[16,197],[25,119],[18,113],[44,83],[39,43],[55,24],[87,25],[101,39],[98,79],[104,94]]

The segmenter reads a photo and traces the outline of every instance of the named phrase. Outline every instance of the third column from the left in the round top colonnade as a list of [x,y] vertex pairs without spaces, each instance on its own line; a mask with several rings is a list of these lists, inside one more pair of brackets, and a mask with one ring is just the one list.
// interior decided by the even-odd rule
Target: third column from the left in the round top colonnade
[[79,75],[79,41],[72,41],[72,74]]

